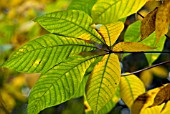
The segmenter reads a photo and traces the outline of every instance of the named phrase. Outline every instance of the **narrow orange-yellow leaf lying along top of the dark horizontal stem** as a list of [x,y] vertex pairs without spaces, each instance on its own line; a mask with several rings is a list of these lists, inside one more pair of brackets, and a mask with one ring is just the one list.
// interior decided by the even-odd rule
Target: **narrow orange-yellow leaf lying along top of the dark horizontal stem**
[[141,44],[139,42],[120,42],[113,47],[114,52],[120,52],[120,51],[143,52],[143,51],[149,51],[152,49],[153,48],[146,46],[144,44]]

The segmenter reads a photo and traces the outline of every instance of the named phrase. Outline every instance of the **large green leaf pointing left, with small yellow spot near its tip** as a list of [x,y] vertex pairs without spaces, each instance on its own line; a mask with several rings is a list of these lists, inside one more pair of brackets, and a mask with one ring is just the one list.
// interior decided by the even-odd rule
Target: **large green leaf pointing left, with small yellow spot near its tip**
[[93,49],[92,44],[80,39],[47,34],[19,48],[4,67],[22,72],[44,72],[72,55]]

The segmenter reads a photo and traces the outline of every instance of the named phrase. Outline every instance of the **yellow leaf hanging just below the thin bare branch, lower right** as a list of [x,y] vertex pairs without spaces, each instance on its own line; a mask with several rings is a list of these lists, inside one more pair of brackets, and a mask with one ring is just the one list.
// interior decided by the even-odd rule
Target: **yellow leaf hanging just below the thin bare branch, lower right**
[[135,75],[121,77],[120,96],[125,104],[131,109],[135,99],[145,92],[142,81]]

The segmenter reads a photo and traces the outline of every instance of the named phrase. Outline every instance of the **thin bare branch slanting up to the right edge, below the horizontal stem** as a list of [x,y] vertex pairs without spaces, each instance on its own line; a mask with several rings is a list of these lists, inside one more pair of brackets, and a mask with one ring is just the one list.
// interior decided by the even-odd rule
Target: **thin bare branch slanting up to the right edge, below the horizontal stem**
[[154,67],[157,67],[157,66],[160,66],[160,65],[163,65],[163,64],[167,64],[167,63],[170,63],[170,60],[169,61],[165,61],[165,62],[162,62],[162,63],[158,63],[158,64],[155,64],[155,65],[152,65],[150,67],[146,67],[146,68],[143,68],[141,70],[137,70],[137,71],[134,71],[134,72],[131,72],[131,73],[123,73],[121,74],[122,76],[128,76],[128,75],[132,75],[132,74],[136,74],[136,73],[139,73],[139,72],[142,72],[142,71],[145,71],[145,70],[149,70],[151,68],[154,68]]

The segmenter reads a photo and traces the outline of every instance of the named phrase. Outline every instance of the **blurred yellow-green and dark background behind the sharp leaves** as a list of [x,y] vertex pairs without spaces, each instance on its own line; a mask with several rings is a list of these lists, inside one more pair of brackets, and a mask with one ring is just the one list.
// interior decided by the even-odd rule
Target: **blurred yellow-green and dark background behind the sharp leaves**
[[[0,0],[0,65],[10,54],[29,40],[46,34],[33,19],[44,13],[65,10],[71,0]],[[150,2],[140,11],[143,16],[159,6],[160,2]],[[142,19],[137,15],[127,18],[126,27]],[[123,35],[120,39],[123,40]],[[170,35],[169,35],[170,36]],[[167,38],[164,51],[170,51],[170,38]],[[161,54],[153,63],[170,60],[170,53]],[[136,62],[134,62],[136,61]],[[133,72],[147,67],[144,54],[134,53],[123,59],[124,71]],[[165,64],[137,74],[144,82],[146,89],[168,83],[170,64]],[[27,100],[39,74],[24,74],[0,67],[0,114],[26,114]],[[85,107],[83,98],[73,99],[59,106],[45,109],[40,114],[83,114]],[[120,101],[109,114],[128,114],[129,110]]]

